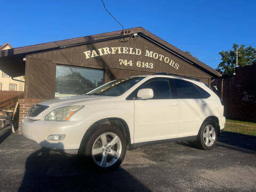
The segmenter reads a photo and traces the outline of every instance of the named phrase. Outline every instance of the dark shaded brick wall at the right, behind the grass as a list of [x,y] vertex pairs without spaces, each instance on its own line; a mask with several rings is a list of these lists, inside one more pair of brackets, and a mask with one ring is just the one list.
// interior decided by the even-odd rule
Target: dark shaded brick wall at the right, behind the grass
[[[214,85],[221,89],[221,79]],[[236,75],[223,77],[224,114],[228,119],[256,122],[256,65],[236,68]]]

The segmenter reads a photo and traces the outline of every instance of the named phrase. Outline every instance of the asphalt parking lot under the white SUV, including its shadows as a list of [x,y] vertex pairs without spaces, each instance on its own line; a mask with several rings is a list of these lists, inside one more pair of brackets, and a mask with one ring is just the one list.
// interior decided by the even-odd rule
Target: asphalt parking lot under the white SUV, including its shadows
[[186,142],[127,151],[110,173],[17,133],[1,141],[0,191],[256,191],[256,137],[238,133],[223,132],[211,151]]

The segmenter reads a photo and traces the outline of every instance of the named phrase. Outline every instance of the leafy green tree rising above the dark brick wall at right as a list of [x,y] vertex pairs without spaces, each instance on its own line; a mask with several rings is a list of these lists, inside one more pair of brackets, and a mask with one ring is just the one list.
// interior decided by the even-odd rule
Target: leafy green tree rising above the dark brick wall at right
[[245,45],[233,44],[233,50],[221,51],[222,62],[216,69],[220,73],[233,73],[236,68],[236,47],[238,49],[238,67],[253,65],[256,63],[256,49],[252,46],[246,47]]

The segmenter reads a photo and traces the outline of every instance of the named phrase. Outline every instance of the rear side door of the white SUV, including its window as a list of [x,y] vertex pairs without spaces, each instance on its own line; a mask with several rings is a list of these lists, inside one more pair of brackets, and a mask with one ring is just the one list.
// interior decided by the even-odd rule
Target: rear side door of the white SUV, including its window
[[179,102],[179,129],[178,137],[197,135],[206,104],[196,86],[188,81],[173,78],[175,98]]

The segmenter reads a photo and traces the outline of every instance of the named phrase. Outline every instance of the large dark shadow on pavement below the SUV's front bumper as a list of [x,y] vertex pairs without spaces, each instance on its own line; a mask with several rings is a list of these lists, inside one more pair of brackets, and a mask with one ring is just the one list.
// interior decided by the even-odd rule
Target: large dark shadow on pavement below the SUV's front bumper
[[84,163],[77,156],[41,148],[27,158],[18,191],[150,191],[121,167],[97,173]]

